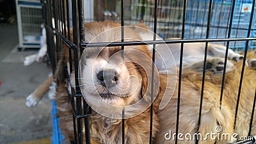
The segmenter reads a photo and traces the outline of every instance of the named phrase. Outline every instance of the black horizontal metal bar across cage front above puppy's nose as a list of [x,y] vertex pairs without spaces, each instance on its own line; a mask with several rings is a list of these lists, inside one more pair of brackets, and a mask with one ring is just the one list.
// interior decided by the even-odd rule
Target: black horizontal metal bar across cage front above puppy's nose
[[134,42],[99,42],[99,43],[81,43],[83,47],[115,47],[127,45],[152,45],[152,44],[177,44],[177,43],[193,43],[193,42],[232,42],[256,40],[255,38],[208,38],[208,39],[179,39],[179,40],[148,40]]

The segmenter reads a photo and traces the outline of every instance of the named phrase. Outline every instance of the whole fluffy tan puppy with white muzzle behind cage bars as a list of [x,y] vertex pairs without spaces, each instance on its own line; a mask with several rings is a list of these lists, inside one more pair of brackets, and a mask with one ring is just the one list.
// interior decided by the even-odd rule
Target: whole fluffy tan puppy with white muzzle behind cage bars
[[[120,42],[121,33],[120,28],[117,28],[118,26],[120,24],[114,22],[87,23],[84,25],[85,42]],[[111,28],[112,30],[108,31]],[[140,36],[132,29],[125,28],[124,30],[125,41],[141,40]],[[104,31],[107,32],[99,35]],[[122,120],[120,119],[122,113],[120,112],[125,106],[131,106],[125,107],[125,143],[148,143],[149,141],[150,109],[148,106],[150,106],[151,95],[151,52],[145,45],[126,46],[124,50],[122,58],[121,47],[88,47],[86,48],[86,55],[81,58],[81,92],[86,102],[93,108],[90,116],[92,143],[122,143]],[[125,62],[121,63],[120,61]],[[218,58],[207,60],[207,63],[211,64],[211,68],[214,68],[219,62],[223,62],[223,60]],[[248,65],[255,66],[254,62],[255,60],[250,60]],[[67,140],[74,140],[73,114],[66,88],[67,82],[68,89],[70,86],[74,87],[74,74],[68,73],[68,66],[68,48],[63,47],[55,75],[58,83],[56,101],[58,102],[63,134]],[[215,132],[216,126],[220,125],[223,128],[222,132],[237,132],[241,136],[248,133],[250,111],[252,111],[256,87],[255,70],[253,68],[246,68],[245,70],[236,131],[233,131],[241,62],[235,63],[235,68],[234,72],[226,74],[221,109],[219,104],[221,76],[215,76],[210,72],[211,70],[207,72],[201,125],[198,132],[202,134]],[[182,74],[179,132],[184,134],[197,132],[202,83],[201,70],[202,61],[199,61],[184,69]],[[156,101],[153,110],[152,136],[156,144],[173,143],[173,140],[168,141],[164,136],[170,131],[175,131],[177,86],[166,89],[166,84],[177,84],[177,76],[157,74],[156,71],[154,75],[155,93],[153,93]],[[67,77],[71,78],[67,79]],[[170,96],[174,91],[171,102],[164,109],[159,110],[164,92],[169,93],[169,91]],[[255,125],[255,122],[253,124]],[[255,126],[252,133],[255,133]],[[213,141],[200,142],[212,143]],[[194,141],[179,141],[179,143],[194,143]]]

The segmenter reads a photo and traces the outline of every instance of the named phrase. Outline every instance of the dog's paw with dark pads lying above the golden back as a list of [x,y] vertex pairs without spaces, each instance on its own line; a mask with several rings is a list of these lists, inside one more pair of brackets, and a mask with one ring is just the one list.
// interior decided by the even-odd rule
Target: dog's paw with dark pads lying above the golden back
[[[223,74],[224,70],[224,58],[209,58],[206,63],[206,71],[211,71],[213,74]],[[227,60],[226,72],[230,72],[234,69],[233,63]]]

